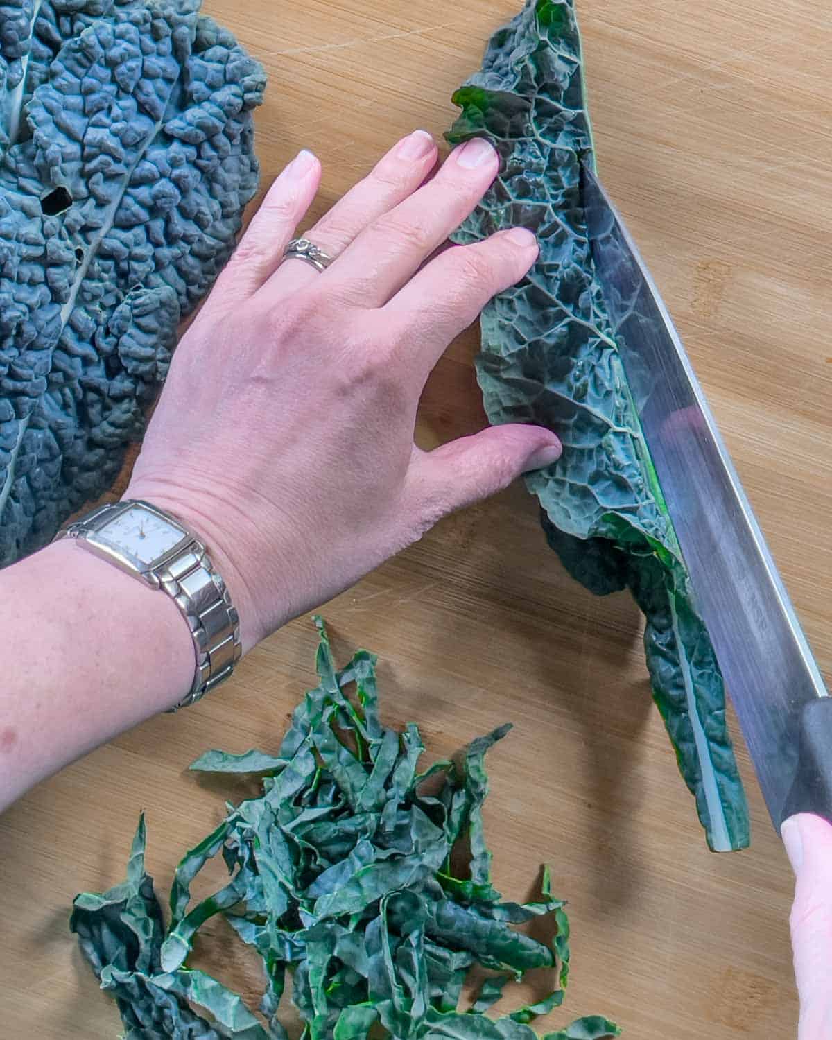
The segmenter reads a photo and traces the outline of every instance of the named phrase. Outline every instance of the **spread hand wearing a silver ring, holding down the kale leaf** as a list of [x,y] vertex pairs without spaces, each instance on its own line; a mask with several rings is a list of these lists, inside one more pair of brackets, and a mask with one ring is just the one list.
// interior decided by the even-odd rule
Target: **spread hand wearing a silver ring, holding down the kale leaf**
[[174,356],[127,494],[205,538],[246,649],[561,452],[530,425],[430,452],[413,443],[448,342],[538,253],[514,230],[434,256],[498,165],[484,140],[425,181],[436,160],[426,133],[399,141],[308,232],[336,258],[319,274],[281,263],[320,180],[301,152]]

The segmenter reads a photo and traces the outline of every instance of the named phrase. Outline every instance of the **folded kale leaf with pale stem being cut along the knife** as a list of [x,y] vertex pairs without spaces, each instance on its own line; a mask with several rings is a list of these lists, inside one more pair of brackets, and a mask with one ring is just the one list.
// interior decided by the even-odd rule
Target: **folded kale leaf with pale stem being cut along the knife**
[[580,191],[593,161],[574,0],[528,0],[457,92],[452,142],[485,135],[501,170],[460,241],[523,225],[528,276],[482,318],[489,419],[555,431],[562,458],[527,478],[567,570],[597,594],[629,588],[647,617],[653,696],[711,849],[749,842],[717,658],[691,595],[595,275]]

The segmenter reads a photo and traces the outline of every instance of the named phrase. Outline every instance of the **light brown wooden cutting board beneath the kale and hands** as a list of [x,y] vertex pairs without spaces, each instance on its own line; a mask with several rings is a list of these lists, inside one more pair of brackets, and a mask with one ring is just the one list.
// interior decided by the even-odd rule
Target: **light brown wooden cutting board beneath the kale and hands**
[[[441,135],[453,88],[519,0],[212,0],[266,66],[263,186],[302,147],[319,214],[399,135]],[[832,676],[832,23],[824,0],[580,0],[599,163],[677,320],[809,641]],[[419,440],[483,422],[462,337],[424,394]],[[566,1008],[633,1040],[795,1035],[789,868],[738,740],[751,851],[710,855],[651,706],[642,620],[596,599],[546,548],[521,487],[440,524],[326,608],[336,647],[381,654],[384,712],[445,755],[505,721],[487,814],[513,896],[552,867],[570,901]],[[123,878],[140,808],[149,868],[239,785],[184,771],[210,747],[271,749],[313,676],[300,619],[196,709],[155,719],[42,784],[0,820],[0,1031],[114,1038],[82,963],[72,898]],[[8,649],[6,652],[10,652]],[[59,697],[56,692],[56,697]],[[219,926],[207,964],[256,1002],[256,964]]]

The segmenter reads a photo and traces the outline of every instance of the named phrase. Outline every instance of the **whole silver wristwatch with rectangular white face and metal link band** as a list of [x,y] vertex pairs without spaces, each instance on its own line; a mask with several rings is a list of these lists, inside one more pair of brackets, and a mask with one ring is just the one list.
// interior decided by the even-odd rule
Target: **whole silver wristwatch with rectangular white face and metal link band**
[[205,545],[188,528],[149,502],[102,505],[61,530],[96,555],[161,589],[185,616],[197,649],[190,692],[173,708],[193,704],[218,686],[240,658],[240,623],[226,583]]

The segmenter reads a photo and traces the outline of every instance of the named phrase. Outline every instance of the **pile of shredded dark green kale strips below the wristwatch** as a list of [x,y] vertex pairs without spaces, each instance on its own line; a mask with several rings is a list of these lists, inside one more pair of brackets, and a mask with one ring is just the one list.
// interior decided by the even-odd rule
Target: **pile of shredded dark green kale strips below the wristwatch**
[[[338,670],[318,624],[320,682],[295,708],[277,755],[212,751],[191,766],[262,773],[263,794],[230,806],[184,855],[168,928],[145,873],[142,817],[127,880],[75,900],[71,928],[81,950],[135,1040],[284,1040],[278,1009],[287,972],[305,1040],[360,1040],[379,1026],[413,1040],[537,1040],[528,1023],[564,998],[569,922],[548,870],[532,903],[502,902],[491,883],[485,755],[509,727],[472,742],[453,762],[419,773],[417,728],[398,732],[379,716],[374,657],[359,651]],[[467,877],[459,877],[451,862],[466,851]],[[219,855],[228,883],[194,903],[191,884]],[[262,958],[262,1022],[217,980],[186,966],[196,933],[216,914]],[[514,927],[534,917],[548,918],[550,941]],[[474,964],[498,974],[461,1012]],[[506,982],[529,968],[551,971],[549,994],[487,1018],[483,1012],[501,998]],[[617,1033],[606,1019],[588,1018],[548,1040]]]

